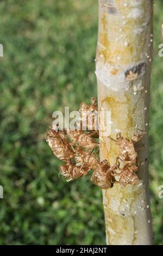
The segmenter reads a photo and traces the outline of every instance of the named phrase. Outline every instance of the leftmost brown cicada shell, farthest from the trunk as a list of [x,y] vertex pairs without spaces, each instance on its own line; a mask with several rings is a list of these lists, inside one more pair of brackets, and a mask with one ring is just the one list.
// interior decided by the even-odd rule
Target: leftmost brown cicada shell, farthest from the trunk
[[67,143],[63,131],[54,131],[52,127],[49,129],[46,141],[52,149],[53,154],[62,161],[69,161],[74,157],[74,151]]

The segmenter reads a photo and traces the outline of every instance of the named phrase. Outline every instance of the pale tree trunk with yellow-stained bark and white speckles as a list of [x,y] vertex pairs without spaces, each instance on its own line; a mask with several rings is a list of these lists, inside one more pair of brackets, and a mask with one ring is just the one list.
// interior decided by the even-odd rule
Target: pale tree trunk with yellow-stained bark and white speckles
[[[99,0],[96,54],[99,111],[111,112],[111,137],[146,131],[138,149],[139,185],[103,190],[106,243],[151,245],[148,188],[149,84],[153,49],[152,0]],[[133,77],[131,75],[133,74]],[[101,160],[115,163],[118,146],[100,131]]]

